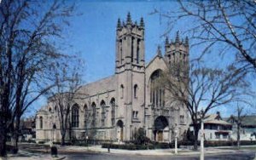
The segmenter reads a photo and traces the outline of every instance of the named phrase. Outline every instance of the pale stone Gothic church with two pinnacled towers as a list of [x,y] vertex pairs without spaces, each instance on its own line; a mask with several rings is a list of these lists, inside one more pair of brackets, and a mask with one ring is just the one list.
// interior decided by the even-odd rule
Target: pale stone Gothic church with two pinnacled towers
[[[188,110],[171,105],[168,92],[153,85],[169,64],[177,60],[188,63],[188,38],[181,39],[178,32],[173,41],[166,37],[165,53],[158,47],[154,58],[146,63],[144,29],[143,18],[133,22],[128,14],[125,21],[118,20],[115,72],[79,89],[86,97],[72,106],[67,137],[122,142],[135,140],[137,130],[142,128],[150,140],[183,139],[189,128]],[[57,115],[51,102],[37,111],[37,141],[61,141]]]

